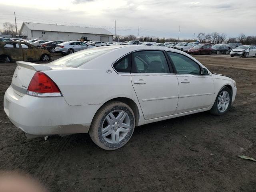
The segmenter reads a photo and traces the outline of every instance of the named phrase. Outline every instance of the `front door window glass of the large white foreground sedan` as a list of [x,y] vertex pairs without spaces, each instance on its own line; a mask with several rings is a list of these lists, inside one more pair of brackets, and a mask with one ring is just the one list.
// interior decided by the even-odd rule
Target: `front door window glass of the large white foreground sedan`
[[194,62],[192,59],[178,53],[167,52],[168,56],[172,60],[177,74],[192,74],[192,75],[200,75],[201,70],[200,66]]

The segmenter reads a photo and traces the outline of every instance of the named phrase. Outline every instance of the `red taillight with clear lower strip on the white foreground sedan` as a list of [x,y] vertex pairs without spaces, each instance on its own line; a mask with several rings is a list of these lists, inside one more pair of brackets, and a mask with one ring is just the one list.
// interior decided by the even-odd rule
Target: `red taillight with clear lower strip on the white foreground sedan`
[[36,72],[27,90],[28,95],[49,97],[62,96],[58,86],[43,72]]

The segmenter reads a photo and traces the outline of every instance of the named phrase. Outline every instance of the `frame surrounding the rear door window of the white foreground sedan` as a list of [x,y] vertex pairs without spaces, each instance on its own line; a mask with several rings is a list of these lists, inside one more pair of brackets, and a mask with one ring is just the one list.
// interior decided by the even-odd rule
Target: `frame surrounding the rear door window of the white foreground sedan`
[[[169,69],[169,73],[137,73],[137,72],[134,72],[133,71],[133,69],[135,68],[135,66],[134,66],[134,64],[135,64],[135,62],[134,62],[134,55],[133,55],[133,53],[135,53],[135,52],[141,52],[141,51],[160,51],[160,52],[163,52],[163,54],[164,54],[164,57],[165,57],[165,59],[166,59],[166,62],[167,62],[167,66],[168,66],[168,69]],[[166,53],[165,53],[165,50],[159,50],[159,49],[143,49],[143,50],[136,50],[136,51],[132,51],[132,68],[131,68],[131,74],[150,74],[150,75],[161,75],[161,74],[174,74],[174,70],[173,70],[173,68],[172,68],[172,66],[170,65],[170,61],[169,61],[169,58],[168,58],[168,56],[166,55]]]

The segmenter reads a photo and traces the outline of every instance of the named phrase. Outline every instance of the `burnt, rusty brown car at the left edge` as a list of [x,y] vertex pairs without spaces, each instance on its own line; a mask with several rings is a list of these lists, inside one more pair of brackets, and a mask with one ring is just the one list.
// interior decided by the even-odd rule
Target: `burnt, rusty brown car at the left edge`
[[47,50],[41,50],[27,42],[0,42],[0,60],[3,62],[14,61],[49,61]]

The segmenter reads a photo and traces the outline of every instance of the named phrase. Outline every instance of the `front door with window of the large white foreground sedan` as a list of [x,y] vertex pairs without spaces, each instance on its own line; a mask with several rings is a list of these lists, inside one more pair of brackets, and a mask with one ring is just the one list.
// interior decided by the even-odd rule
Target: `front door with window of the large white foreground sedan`
[[176,114],[208,108],[214,97],[212,76],[201,75],[201,67],[191,58],[167,52],[178,78],[179,100]]

